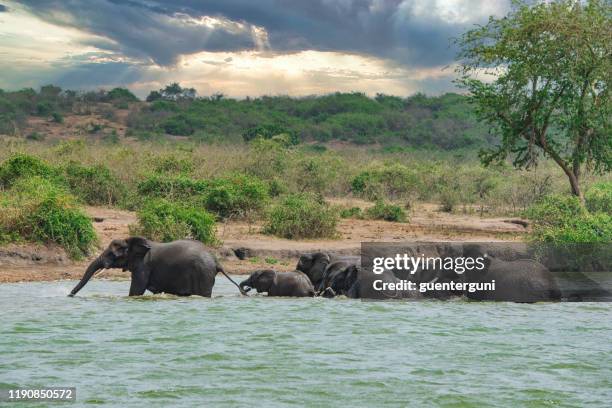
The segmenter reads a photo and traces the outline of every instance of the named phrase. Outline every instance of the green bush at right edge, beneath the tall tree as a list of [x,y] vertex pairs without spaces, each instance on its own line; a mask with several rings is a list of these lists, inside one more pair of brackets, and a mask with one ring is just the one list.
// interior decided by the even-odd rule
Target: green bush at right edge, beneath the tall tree
[[610,213],[588,213],[577,197],[551,195],[530,207],[532,240],[551,243],[611,243]]

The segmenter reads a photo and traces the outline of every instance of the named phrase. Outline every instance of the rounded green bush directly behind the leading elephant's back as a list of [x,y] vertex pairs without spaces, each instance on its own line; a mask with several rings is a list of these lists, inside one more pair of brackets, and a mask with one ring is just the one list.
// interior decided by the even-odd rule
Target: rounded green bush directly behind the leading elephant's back
[[138,224],[130,226],[131,234],[160,242],[197,239],[205,244],[217,243],[215,218],[203,209],[156,199],[147,202],[137,214]]

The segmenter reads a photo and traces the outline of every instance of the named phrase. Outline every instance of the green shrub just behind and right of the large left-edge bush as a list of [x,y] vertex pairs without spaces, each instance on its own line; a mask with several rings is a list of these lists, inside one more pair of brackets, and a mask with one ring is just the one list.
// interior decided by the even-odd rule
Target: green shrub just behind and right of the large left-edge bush
[[70,190],[90,205],[116,205],[125,196],[125,187],[103,165],[82,166],[71,162],[64,167]]

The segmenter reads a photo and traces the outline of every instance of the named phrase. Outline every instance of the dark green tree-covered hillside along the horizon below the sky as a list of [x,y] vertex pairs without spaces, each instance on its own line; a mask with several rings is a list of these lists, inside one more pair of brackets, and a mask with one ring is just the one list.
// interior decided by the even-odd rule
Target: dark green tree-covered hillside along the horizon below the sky
[[88,114],[92,104],[110,103],[130,109],[128,134],[140,139],[170,134],[239,142],[286,134],[294,143],[340,140],[451,150],[482,146],[494,137],[477,123],[467,98],[454,93],[370,98],[355,92],[237,100],[222,94],[198,97],[192,88],[171,84],[152,91],[147,102],[138,102],[124,88],[75,92],[48,85],[39,92],[0,90],[0,133],[16,133],[27,115],[61,121],[66,113]]

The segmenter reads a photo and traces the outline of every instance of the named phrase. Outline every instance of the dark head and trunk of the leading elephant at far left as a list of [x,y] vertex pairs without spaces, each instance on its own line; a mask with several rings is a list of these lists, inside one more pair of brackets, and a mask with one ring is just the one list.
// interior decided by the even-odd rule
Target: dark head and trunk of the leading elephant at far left
[[85,270],[81,281],[72,289],[69,296],[74,296],[89,282],[91,277],[101,269],[122,268],[134,271],[151,249],[151,243],[145,238],[132,237],[115,239]]

